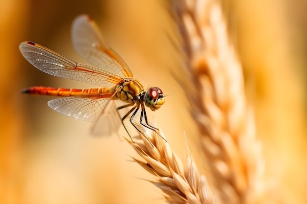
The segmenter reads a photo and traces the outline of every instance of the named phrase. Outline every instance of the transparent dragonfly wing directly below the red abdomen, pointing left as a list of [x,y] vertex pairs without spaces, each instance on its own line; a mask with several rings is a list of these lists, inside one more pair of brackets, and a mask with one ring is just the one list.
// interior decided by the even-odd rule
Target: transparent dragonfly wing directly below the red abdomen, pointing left
[[72,96],[53,99],[48,102],[48,106],[58,113],[88,122],[95,122],[109,99]]

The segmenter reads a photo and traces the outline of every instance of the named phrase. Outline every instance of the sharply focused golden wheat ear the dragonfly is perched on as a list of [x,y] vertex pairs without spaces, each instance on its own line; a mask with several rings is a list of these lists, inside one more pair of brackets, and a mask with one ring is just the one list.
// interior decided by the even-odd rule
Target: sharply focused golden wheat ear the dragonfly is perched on
[[143,132],[128,143],[145,160],[133,158],[147,171],[156,176],[152,183],[165,194],[171,204],[213,204],[214,199],[204,175],[196,167],[193,157],[188,152],[185,165],[172,151],[168,142],[153,132]]

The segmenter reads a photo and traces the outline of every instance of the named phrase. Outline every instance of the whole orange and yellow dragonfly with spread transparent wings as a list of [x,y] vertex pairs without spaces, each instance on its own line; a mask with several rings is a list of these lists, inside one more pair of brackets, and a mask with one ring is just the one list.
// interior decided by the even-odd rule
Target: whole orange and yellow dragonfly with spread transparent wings
[[[144,135],[142,128],[146,127],[159,135],[158,128],[147,119],[145,106],[152,111],[158,110],[165,102],[162,90],[158,87],[150,87],[146,90],[138,80],[133,78],[128,65],[111,48],[97,24],[89,16],[81,15],[74,20],[72,40],[78,54],[93,66],[77,63],[30,41],[21,43],[19,49],[30,64],[45,73],[94,84],[99,88],[66,89],[35,86],[24,89],[22,92],[60,96],[48,102],[51,109],[93,123],[97,122],[98,118],[103,118],[107,112],[106,107],[109,105],[118,113],[129,136],[128,129],[123,122],[128,116],[130,116],[130,123],[141,134]],[[122,101],[124,105],[116,107],[112,103],[114,101]],[[128,111],[121,116],[119,110],[126,109]],[[136,115],[139,116],[138,121],[135,119]],[[108,119],[110,118],[106,120]],[[132,140],[131,136],[130,138]]]

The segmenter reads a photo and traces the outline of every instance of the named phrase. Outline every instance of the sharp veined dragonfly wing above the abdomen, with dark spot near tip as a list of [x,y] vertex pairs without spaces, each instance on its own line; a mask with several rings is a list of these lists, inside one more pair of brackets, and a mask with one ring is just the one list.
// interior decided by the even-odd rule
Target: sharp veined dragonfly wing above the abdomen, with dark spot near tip
[[34,67],[53,76],[87,82],[101,87],[119,84],[123,78],[88,65],[79,64],[42,45],[23,42],[19,49]]

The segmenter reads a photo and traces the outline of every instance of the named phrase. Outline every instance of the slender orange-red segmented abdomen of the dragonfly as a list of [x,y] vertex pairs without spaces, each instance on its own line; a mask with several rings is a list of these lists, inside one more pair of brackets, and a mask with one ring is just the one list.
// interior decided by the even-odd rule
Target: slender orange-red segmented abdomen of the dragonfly
[[23,93],[54,96],[83,96],[83,97],[110,97],[114,91],[108,87],[93,89],[65,89],[52,87],[30,87],[22,91]]

